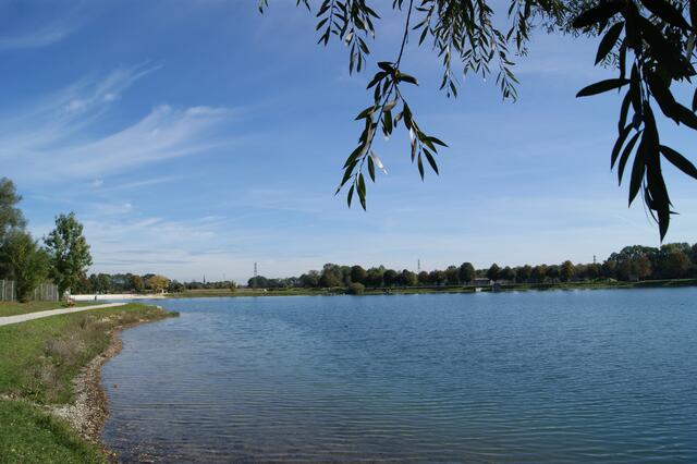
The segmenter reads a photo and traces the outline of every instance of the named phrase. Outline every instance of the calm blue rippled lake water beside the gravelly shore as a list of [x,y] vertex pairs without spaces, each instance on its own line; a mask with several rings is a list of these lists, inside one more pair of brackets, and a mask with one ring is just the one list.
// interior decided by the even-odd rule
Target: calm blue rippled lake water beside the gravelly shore
[[163,305],[103,369],[125,462],[697,462],[697,289]]

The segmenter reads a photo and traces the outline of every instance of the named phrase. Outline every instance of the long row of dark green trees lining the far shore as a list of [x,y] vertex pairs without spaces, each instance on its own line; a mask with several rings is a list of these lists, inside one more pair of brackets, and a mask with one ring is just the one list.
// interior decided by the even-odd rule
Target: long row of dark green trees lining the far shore
[[466,285],[476,279],[503,283],[557,283],[597,280],[637,281],[651,279],[697,278],[697,244],[670,243],[660,248],[650,246],[626,246],[611,254],[602,264],[574,264],[570,260],[559,265],[524,265],[501,267],[498,264],[487,269],[475,269],[472,262],[449,266],[445,269],[401,271],[384,266],[368,269],[362,266],[326,264],[321,270],[311,270],[299,277],[268,279],[253,277],[247,286],[256,289],[283,288],[346,288],[360,292],[362,288],[394,286],[445,286]]

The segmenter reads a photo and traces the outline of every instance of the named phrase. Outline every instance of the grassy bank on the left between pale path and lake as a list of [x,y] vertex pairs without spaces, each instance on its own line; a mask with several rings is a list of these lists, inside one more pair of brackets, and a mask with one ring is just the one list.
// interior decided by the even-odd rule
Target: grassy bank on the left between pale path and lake
[[173,315],[130,304],[0,327],[0,395],[19,399],[0,401],[0,462],[103,461],[98,447],[37,405],[73,402],[72,380],[107,349],[109,330]]

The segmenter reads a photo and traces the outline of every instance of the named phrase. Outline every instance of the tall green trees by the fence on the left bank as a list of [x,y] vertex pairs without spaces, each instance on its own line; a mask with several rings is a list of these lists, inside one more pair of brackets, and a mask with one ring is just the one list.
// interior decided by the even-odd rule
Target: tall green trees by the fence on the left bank
[[91,265],[89,245],[83,225],[73,212],[56,217],[56,229],[42,239],[27,230],[24,213],[17,207],[22,197],[14,183],[0,179],[0,279],[15,281],[16,298],[26,302],[44,282],[58,286],[62,295],[74,290]]

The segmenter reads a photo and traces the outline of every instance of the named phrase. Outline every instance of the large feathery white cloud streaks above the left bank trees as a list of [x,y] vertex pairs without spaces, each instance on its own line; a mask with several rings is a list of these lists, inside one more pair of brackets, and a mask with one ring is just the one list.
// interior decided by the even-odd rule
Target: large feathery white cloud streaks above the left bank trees
[[12,115],[0,115],[0,160],[10,167],[8,174],[23,181],[103,183],[105,176],[143,164],[230,144],[219,130],[239,111],[205,106],[160,105],[124,127],[100,132],[98,122],[122,93],[157,69],[120,69],[101,80],[84,78]]

